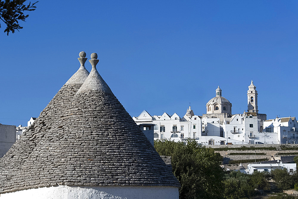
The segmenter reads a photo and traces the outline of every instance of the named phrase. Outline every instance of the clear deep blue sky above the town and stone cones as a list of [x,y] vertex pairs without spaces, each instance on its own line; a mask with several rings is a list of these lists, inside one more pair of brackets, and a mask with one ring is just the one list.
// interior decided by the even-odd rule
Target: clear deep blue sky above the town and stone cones
[[[131,116],[195,114],[220,85],[232,114],[298,116],[297,1],[40,1],[7,36],[1,23],[0,123],[27,125],[79,68],[80,51]],[[2,32],[2,33],[1,33]],[[91,65],[86,62],[90,71]]]

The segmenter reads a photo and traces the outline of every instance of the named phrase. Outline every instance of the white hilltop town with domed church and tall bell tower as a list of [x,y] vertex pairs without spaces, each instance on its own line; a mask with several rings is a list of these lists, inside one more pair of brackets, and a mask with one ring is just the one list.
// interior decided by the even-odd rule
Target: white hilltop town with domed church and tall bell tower
[[133,117],[139,124],[154,124],[154,139],[175,142],[196,139],[208,144],[298,144],[298,123],[295,117],[266,120],[257,105],[257,90],[253,81],[247,91],[247,112],[232,114],[232,103],[222,97],[222,90],[206,104],[206,114],[195,115],[189,107],[181,118],[176,113],[151,116],[143,111]]

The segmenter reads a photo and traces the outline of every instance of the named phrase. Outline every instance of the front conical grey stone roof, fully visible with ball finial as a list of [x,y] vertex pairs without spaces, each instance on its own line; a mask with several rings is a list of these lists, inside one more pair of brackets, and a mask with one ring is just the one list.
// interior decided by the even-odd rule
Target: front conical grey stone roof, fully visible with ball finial
[[174,186],[180,184],[98,74],[92,70],[3,192],[53,185]]

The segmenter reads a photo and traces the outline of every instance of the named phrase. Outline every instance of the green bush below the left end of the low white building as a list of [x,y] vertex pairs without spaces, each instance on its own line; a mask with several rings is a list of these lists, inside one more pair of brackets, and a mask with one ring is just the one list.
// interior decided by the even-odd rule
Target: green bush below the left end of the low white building
[[267,176],[268,176],[268,173],[266,173],[266,172],[255,171],[251,174],[249,183],[255,189],[269,190],[270,185],[266,179]]

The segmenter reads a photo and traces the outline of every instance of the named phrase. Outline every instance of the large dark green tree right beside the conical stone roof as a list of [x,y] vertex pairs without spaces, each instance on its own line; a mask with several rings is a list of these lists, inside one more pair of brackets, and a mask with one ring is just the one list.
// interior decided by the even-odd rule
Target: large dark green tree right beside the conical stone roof
[[157,140],[154,147],[159,155],[172,157],[173,173],[181,184],[180,198],[222,198],[224,170],[219,153],[191,139],[186,144]]

